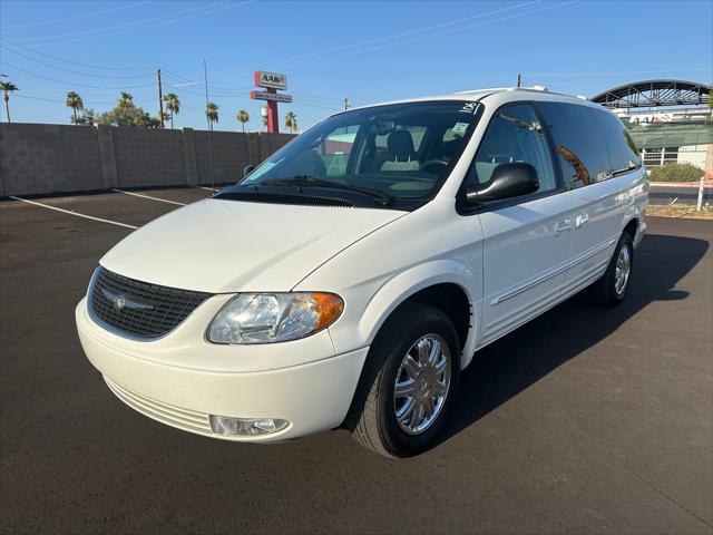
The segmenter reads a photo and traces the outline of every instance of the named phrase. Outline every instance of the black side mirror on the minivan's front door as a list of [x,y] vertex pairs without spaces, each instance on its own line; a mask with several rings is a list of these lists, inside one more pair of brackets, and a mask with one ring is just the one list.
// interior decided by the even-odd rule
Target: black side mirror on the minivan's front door
[[518,197],[539,189],[537,171],[530,164],[500,164],[492,171],[487,184],[475,184],[466,188],[468,204]]

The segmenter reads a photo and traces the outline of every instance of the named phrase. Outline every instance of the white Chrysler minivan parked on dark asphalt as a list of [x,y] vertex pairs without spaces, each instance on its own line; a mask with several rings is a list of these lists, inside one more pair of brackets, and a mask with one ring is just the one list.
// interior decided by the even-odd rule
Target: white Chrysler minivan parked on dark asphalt
[[584,289],[625,299],[647,191],[622,123],[580,98],[350,109],[111,249],[79,338],[119,399],[178,429],[345,427],[414,455],[477,350]]

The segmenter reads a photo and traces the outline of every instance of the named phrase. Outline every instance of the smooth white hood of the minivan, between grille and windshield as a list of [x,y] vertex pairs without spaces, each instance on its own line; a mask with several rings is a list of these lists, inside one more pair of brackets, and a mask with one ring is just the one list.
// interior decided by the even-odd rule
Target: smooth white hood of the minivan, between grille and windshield
[[185,290],[290,291],[340,251],[406,214],[209,198],[131,233],[100,264]]

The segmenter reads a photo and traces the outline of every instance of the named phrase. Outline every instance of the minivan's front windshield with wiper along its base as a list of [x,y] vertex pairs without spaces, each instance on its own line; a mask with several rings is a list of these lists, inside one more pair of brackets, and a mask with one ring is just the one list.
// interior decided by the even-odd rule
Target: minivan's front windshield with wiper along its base
[[463,100],[345,111],[295,138],[241,185],[267,192],[271,185],[299,183],[300,187],[330,186],[332,196],[343,187],[351,193],[371,192],[372,201],[373,193],[394,204],[428,201],[460,158],[478,116],[478,104]]

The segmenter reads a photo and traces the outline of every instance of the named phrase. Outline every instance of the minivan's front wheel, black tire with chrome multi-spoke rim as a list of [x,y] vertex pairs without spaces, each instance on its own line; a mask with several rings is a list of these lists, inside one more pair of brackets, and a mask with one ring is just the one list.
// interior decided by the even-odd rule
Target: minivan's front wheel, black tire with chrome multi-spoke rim
[[[438,347],[440,350],[434,349]],[[422,353],[419,348],[423,349]],[[433,358],[432,366],[423,366],[422,357],[437,351],[440,352]],[[407,354],[416,362],[407,361]],[[428,358],[424,360],[429,361]],[[449,363],[445,364],[445,360]],[[412,379],[416,376],[418,379]],[[441,432],[456,398],[459,378],[460,343],[449,318],[434,307],[407,303],[387,320],[371,346],[346,427],[359,444],[383,456],[418,455]],[[394,396],[397,380],[403,392],[412,392],[410,398]],[[404,387],[409,383],[411,386]],[[442,397],[438,396],[443,391]],[[423,415],[420,407],[423,407]],[[397,410],[404,416],[399,418]],[[409,417],[409,410],[416,416]],[[417,425],[421,415],[422,421]],[[426,427],[421,429],[422,426]]]

